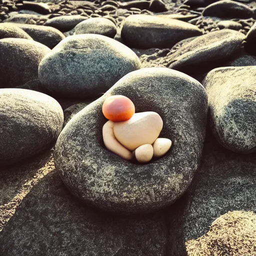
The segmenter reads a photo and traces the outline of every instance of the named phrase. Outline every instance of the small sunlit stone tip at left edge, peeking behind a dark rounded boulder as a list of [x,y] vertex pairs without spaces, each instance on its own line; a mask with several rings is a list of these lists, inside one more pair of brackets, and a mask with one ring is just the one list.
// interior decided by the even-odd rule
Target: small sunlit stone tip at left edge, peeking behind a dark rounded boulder
[[9,37],[32,39],[29,34],[19,27],[8,23],[0,23],[0,39]]

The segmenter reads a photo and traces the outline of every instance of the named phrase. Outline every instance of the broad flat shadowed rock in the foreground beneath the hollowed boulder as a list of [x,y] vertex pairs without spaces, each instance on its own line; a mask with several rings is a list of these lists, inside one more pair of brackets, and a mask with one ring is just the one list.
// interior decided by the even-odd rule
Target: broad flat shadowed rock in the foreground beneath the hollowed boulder
[[180,231],[184,196],[153,214],[100,212],[82,205],[69,193],[48,159],[37,165],[40,169],[33,169],[37,179],[30,173],[34,187],[25,191],[25,198],[17,202],[15,214],[0,232],[1,255],[186,255]]

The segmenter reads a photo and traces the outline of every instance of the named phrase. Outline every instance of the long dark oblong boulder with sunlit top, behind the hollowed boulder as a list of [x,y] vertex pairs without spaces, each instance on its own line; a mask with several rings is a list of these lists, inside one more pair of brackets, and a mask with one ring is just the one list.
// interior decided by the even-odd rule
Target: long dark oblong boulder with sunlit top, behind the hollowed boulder
[[201,34],[197,26],[168,15],[130,15],[121,29],[122,40],[134,48],[171,48],[182,39]]

